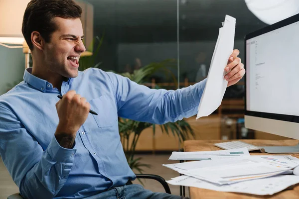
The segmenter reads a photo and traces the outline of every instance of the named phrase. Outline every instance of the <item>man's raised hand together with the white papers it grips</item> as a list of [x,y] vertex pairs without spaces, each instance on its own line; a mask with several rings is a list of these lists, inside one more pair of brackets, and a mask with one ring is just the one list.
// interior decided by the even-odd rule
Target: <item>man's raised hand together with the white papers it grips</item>
[[[245,74],[244,65],[241,63],[241,59],[237,57],[239,51],[233,51],[236,19],[226,15],[225,22],[222,24],[223,27],[219,29],[196,119],[208,116],[216,110],[221,104],[226,88],[239,82]],[[224,76],[227,76],[227,79]]]

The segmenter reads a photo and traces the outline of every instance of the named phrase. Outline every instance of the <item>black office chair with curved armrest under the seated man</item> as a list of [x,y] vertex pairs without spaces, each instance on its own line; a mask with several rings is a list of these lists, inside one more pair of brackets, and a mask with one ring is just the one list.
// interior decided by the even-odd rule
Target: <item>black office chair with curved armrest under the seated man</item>
[[[136,174],[137,179],[152,179],[158,181],[164,188],[165,192],[167,194],[171,194],[170,188],[168,184],[165,182],[165,180],[158,175],[152,175],[152,174]],[[126,185],[132,185],[133,183],[129,181]],[[24,199],[19,193],[10,195],[7,199]]]

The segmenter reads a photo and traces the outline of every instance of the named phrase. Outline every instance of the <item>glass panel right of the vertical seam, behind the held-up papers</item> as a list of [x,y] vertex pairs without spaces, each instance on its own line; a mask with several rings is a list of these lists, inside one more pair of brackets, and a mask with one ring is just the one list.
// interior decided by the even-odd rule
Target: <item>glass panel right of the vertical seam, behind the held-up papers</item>
[[[244,63],[244,36],[267,24],[244,0],[179,0],[180,81],[193,85],[207,77],[221,22],[236,18],[234,49]],[[194,118],[192,118],[194,119]],[[196,139],[255,138],[244,128],[244,79],[227,88],[220,107],[194,122]]]

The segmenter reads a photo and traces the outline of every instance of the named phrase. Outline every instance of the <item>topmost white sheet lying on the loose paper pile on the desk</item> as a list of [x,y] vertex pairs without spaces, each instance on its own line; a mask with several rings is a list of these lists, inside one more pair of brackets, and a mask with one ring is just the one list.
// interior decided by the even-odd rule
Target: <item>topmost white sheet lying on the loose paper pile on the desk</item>
[[275,176],[288,170],[290,169],[278,168],[264,162],[258,162],[241,165],[220,165],[218,167],[191,169],[180,173],[211,183],[226,185]]

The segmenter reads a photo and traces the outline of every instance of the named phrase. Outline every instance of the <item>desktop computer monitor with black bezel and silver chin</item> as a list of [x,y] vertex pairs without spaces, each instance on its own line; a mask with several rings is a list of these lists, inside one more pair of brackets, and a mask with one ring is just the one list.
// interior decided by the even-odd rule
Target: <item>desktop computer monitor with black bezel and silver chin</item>
[[299,14],[246,35],[244,63],[245,127],[299,139]]

